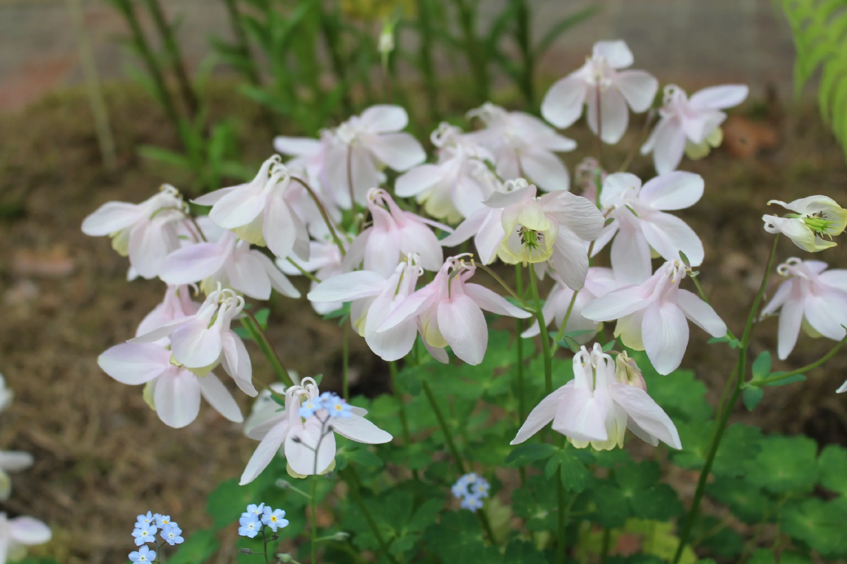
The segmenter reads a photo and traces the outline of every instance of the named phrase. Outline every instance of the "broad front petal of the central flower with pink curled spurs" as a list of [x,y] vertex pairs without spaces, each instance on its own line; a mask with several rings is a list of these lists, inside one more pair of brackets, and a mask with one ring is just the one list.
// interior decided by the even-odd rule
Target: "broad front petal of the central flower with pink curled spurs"
[[444,340],[459,359],[479,364],[488,347],[488,326],[485,315],[472,298],[454,295],[438,306],[438,326]]

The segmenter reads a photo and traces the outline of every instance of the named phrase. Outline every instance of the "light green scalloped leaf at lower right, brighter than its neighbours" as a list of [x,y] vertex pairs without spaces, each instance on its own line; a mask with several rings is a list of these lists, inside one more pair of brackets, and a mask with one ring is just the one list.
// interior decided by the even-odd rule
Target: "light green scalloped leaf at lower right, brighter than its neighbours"
[[805,436],[767,436],[747,466],[747,479],[775,494],[811,491],[817,482],[817,443]]

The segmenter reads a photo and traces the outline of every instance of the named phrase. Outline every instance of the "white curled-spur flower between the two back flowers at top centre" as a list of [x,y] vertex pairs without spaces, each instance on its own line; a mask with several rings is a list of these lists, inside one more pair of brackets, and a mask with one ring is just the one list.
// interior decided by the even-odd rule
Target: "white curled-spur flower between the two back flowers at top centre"
[[429,139],[438,148],[438,162],[401,174],[394,192],[402,198],[415,196],[429,216],[459,222],[482,208],[491,195],[489,184],[481,181],[476,171],[487,168],[485,161],[494,162],[494,156],[462,138],[462,130],[449,123],[440,123]]

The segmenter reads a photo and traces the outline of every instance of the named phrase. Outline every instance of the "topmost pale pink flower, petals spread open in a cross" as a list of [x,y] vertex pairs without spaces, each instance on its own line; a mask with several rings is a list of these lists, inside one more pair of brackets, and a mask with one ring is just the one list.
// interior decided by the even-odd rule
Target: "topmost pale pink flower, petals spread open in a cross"
[[597,101],[600,101],[601,139],[615,144],[627,130],[629,112],[646,112],[659,90],[659,81],[643,70],[622,70],[634,62],[623,41],[597,41],[585,64],[552,85],[541,102],[541,115],[563,129],[582,115],[597,134]]

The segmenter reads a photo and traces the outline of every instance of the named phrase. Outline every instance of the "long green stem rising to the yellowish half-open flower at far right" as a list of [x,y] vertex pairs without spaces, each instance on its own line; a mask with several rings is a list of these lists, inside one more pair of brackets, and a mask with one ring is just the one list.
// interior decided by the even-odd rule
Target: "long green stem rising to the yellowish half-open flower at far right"
[[[773,238],[771,255],[767,258],[765,276],[761,279],[761,286],[759,287],[759,292],[756,293],[756,298],[753,300],[753,306],[750,308],[750,314],[747,315],[747,325],[745,326],[744,336],[741,337],[741,344],[739,345],[739,361],[738,366],[735,370],[736,378],[734,390],[732,392],[732,395],[729,397],[729,401],[727,402],[727,404],[723,406],[722,412],[720,413],[719,419],[717,421],[717,427],[715,428],[711,436],[711,441],[709,442],[709,451],[706,455],[706,464],[700,471],[700,479],[697,480],[697,489],[695,490],[694,500],[691,501],[691,509],[689,510],[688,515],[685,518],[685,526],[683,528],[682,533],[679,535],[679,545],[677,546],[676,554],[674,554],[673,556],[673,564],[678,564],[679,559],[683,556],[685,544],[688,542],[688,539],[691,536],[691,529],[694,527],[695,518],[697,517],[697,512],[700,509],[700,501],[702,501],[703,494],[706,491],[706,480],[709,478],[709,473],[711,472],[711,465],[715,462],[715,455],[717,455],[717,449],[721,445],[723,431],[726,430],[727,423],[729,421],[729,416],[733,413],[735,403],[738,402],[739,397],[741,396],[742,383],[745,381],[745,373],[747,371],[747,348],[750,346],[750,335],[753,330],[753,321],[756,320],[756,316],[759,312],[759,306],[761,304],[761,299],[765,295],[765,290],[767,289],[767,281],[771,275],[773,260],[777,255],[778,243],[779,235],[777,234],[777,236]],[[731,381],[732,378],[730,378],[727,382],[728,386]]]

